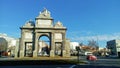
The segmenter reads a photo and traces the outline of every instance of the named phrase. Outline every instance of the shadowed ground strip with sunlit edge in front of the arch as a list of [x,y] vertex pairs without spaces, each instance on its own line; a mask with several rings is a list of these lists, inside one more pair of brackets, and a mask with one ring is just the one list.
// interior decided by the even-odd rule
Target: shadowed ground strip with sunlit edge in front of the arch
[[[6,60],[5,60],[6,59]],[[84,61],[77,61],[77,57],[25,57],[25,58],[5,58],[0,60],[0,65],[76,65],[86,64]]]

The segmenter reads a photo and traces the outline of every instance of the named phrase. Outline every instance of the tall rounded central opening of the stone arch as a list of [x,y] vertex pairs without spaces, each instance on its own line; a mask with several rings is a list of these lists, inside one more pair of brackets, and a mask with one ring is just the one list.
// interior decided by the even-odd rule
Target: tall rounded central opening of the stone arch
[[50,39],[46,35],[42,35],[38,40],[38,56],[49,56],[50,55]]

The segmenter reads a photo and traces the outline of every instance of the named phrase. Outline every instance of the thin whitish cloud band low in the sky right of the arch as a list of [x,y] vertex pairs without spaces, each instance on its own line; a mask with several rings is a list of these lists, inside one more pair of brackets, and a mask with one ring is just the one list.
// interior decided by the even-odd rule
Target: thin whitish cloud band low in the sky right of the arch
[[[92,34],[92,33],[90,33]],[[94,34],[94,33],[93,33]],[[88,41],[88,40],[97,40],[97,41],[109,41],[113,39],[120,39],[120,33],[113,33],[113,34],[103,34],[103,35],[88,35],[88,36],[72,36],[71,40],[73,41]]]

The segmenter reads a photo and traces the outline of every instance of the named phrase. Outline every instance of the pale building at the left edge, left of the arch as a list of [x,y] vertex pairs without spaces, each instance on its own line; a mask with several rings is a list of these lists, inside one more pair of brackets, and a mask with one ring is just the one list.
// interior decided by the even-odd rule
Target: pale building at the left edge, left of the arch
[[16,46],[19,44],[18,41],[16,38],[0,33],[0,52],[9,52],[8,56],[14,56]]

